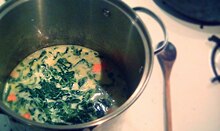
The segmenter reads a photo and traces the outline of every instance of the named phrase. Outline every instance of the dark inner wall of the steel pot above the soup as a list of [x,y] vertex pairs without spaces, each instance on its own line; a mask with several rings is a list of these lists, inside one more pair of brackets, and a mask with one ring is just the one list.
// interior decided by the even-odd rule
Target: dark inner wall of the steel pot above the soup
[[149,63],[145,51],[150,51],[119,8],[102,0],[19,2],[0,15],[1,93],[5,79],[22,59],[55,44],[77,44],[104,53],[123,70],[129,95],[134,92],[142,77],[140,68]]

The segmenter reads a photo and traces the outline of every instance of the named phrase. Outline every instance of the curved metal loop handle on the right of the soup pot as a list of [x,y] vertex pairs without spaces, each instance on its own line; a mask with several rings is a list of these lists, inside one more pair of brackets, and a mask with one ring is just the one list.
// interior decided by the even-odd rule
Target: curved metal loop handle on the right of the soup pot
[[168,43],[168,34],[167,34],[167,31],[166,31],[165,25],[163,24],[162,20],[155,13],[153,13],[152,11],[150,11],[147,8],[135,7],[135,8],[133,8],[133,10],[136,11],[136,12],[137,11],[143,12],[143,13],[146,13],[147,15],[151,16],[153,19],[155,19],[159,23],[160,27],[162,28],[163,34],[164,34],[164,41],[162,42],[162,45],[157,47],[157,49],[155,49],[155,51],[154,51],[155,55],[159,54],[166,47],[166,45]]

